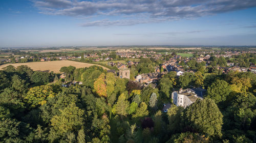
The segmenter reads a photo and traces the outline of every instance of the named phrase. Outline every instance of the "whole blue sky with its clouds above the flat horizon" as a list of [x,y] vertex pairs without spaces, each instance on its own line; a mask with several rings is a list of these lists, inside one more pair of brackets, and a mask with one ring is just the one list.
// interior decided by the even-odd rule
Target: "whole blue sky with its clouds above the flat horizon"
[[0,47],[256,45],[255,0],[0,0]]

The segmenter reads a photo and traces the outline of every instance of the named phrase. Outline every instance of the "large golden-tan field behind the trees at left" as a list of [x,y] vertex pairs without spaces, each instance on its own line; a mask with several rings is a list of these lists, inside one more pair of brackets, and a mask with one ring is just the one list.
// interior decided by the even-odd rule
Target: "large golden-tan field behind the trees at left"
[[[2,70],[4,67],[13,65],[14,67],[20,66],[20,65],[27,65],[34,71],[46,71],[46,72],[55,72],[59,73],[59,70],[61,67],[65,66],[74,66],[76,68],[85,68],[90,67],[95,64],[89,64],[89,63],[81,63],[81,62],[75,62],[75,61],[50,61],[50,62],[30,62],[30,63],[16,63],[16,64],[5,64],[0,66],[0,70]],[[99,66],[99,65],[97,65]],[[103,69],[108,69],[106,67],[101,66]]]

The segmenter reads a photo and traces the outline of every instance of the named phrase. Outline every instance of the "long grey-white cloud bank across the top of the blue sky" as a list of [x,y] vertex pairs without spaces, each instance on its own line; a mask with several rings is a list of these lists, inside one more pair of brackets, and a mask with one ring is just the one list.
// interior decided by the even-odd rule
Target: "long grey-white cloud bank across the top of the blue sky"
[[[81,26],[132,25],[178,19],[195,19],[205,15],[241,10],[256,6],[255,0],[108,0],[108,1],[33,1],[41,13],[65,16],[120,16],[138,15],[131,20],[89,21]],[[146,18],[140,17],[145,15]],[[137,20],[142,18],[143,20]],[[154,21],[157,20],[157,21]],[[103,22],[103,23],[102,23]],[[130,22],[130,23],[127,23]]]

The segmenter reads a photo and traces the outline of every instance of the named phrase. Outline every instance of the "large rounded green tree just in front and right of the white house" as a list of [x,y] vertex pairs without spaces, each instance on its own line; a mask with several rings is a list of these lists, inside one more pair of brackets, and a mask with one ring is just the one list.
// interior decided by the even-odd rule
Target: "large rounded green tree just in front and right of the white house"
[[197,100],[186,108],[184,116],[185,125],[209,136],[222,136],[223,116],[214,100]]

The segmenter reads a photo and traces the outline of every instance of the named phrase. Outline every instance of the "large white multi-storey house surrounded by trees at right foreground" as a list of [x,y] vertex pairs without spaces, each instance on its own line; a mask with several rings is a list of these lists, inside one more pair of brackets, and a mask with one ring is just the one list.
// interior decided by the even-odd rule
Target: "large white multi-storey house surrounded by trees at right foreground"
[[197,99],[202,99],[200,96],[197,96],[194,90],[186,89],[180,91],[175,91],[172,93],[173,103],[176,106],[182,106],[186,108],[187,106],[194,103]]

